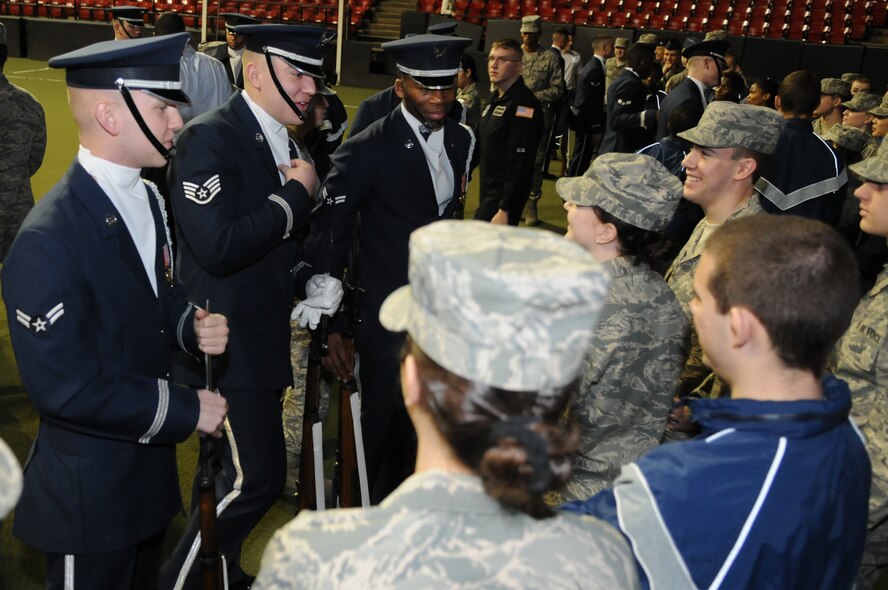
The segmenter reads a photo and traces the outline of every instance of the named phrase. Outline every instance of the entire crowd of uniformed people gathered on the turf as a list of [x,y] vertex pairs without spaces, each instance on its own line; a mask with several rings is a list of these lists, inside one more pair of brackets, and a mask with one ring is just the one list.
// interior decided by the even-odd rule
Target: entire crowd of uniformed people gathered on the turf
[[[80,147],[33,209],[43,113],[0,75],[3,297],[41,416],[13,532],[51,587],[198,587],[195,502],[161,551],[194,431],[232,588],[877,583],[885,89],[748,78],[724,31],[582,63],[529,16],[483,99],[451,22],[383,44],[394,83],[344,140],[323,28],[231,13],[195,51],[143,13],[50,60]],[[515,227],[547,176],[564,238]],[[299,486],[309,331],[333,387],[359,377],[374,506],[300,514],[254,579],[242,545]]]

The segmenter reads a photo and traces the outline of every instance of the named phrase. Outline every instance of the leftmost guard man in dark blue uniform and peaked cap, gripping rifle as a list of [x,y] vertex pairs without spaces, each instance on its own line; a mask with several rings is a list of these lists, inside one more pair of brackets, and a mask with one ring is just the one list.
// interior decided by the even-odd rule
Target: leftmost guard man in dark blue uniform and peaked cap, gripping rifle
[[169,157],[188,101],[188,35],[106,41],[67,68],[80,151],[3,266],[25,390],[40,414],[13,532],[47,554],[49,588],[157,587],[182,509],[175,443],[218,433],[225,400],[176,385],[171,353],[225,350],[225,318],[188,304],[163,199],[139,178]]

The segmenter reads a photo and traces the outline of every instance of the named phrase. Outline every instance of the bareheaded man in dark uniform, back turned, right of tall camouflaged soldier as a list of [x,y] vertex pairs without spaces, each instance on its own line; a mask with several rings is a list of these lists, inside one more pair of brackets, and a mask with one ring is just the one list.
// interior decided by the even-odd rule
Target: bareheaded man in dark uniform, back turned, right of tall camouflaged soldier
[[592,59],[580,69],[577,96],[571,106],[572,128],[577,139],[568,176],[580,176],[589,168],[604,139],[604,62],[614,53],[614,38],[595,37],[592,51]]

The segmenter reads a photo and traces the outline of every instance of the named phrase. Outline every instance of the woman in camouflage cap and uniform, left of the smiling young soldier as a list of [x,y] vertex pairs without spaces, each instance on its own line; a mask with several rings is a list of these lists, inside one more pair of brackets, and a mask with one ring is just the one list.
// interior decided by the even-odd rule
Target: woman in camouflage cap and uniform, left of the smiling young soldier
[[599,156],[555,185],[567,239],[610,272],[607,300],[571,413],[581,428],[566,499],[595,494],[663,436],[684,364],[688,320],[648,260],[681,198],[681,181],[650,156]]

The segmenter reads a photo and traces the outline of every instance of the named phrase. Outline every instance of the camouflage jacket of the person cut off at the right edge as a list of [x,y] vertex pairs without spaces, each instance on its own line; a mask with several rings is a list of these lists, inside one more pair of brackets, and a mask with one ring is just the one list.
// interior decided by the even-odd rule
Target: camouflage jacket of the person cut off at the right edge
[[873,464],[870,509],[888,507],[888,267],[854,311],[831,368],[851,389],[851,417]]

